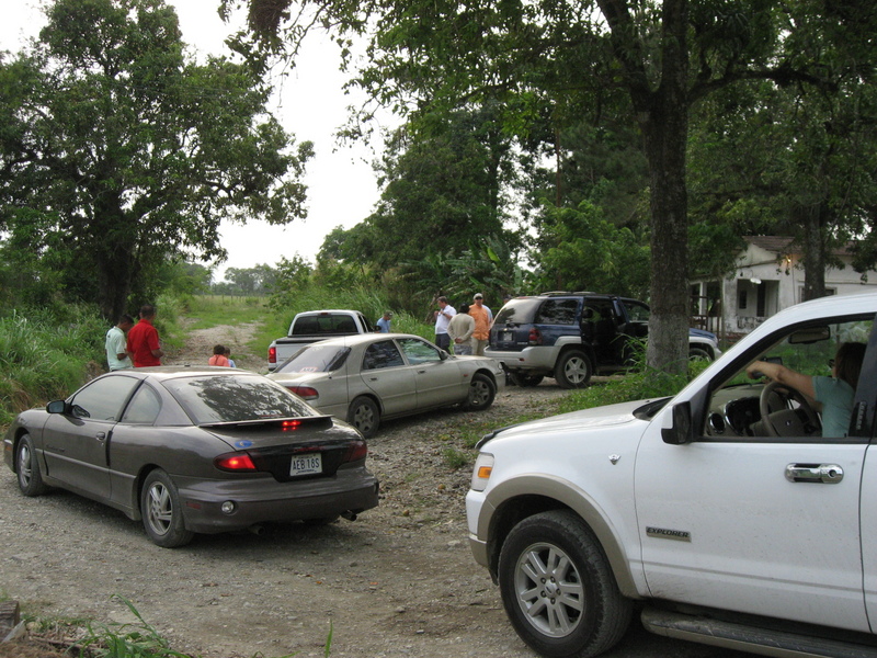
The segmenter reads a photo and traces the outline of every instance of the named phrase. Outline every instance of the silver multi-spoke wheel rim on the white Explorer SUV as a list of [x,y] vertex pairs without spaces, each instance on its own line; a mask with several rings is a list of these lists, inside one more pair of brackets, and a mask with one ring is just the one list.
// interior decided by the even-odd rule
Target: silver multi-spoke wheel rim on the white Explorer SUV
[[584,587],[569,556],[553,544],[534,544],[517,559],[514,593],[524,617],[543,635],[566,637],[584,612]]

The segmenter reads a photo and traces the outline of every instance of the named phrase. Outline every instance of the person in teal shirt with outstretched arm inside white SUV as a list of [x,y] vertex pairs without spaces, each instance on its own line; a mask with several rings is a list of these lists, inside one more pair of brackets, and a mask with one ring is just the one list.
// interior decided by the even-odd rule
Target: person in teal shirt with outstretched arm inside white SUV
[[764,375],[804,394],[815,401],[813,407],[822,412],[822,435],[842,438],[850,431],[853,417],[853,398],[865,359],[864,343],[847,342],[838,348],[829,362],[831,377],[797,373],[779,363],[756,361],[747,368],[751,378]]

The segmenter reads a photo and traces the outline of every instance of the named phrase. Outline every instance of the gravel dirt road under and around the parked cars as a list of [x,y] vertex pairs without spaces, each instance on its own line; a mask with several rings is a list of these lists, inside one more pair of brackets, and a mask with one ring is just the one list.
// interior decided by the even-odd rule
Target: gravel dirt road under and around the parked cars
[[[247,329],[204,330],[168,363],[202,362],[216,342],[236,352]],[[201,341],[201,342],[197,342]],[[197,344],[195,344],[197,342]],[[260,356],[236,353],[261,370]],[[369,441],[381,500],[357,521],[267,526],[260,534],[152,545],[138,522],[72,494],[25,498],[0,475],[0,594],[25,613],[134,621],[129,600],[174,649],[209,657],[533,657],[472,560],[464,497],[469,469],[452,469],[453,430],[562,396],[551,382],[506,388],[485,412],[448,409],[386,423]],[[0,656],[2,656],[0,651]],[[671,642],[638,624],[610,658],[742,656]]]

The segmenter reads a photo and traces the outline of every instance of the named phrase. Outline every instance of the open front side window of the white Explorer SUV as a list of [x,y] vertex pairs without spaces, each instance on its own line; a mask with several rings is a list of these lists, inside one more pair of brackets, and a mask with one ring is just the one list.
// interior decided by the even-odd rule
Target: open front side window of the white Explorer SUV
[[[844,440],[853,410],[861,354],[867,343],[873,320],[848,318],[820,326],[795,328],[741,361],[725,384],[711,396],[705,434],[713,440],[836,442]],[[833,370],[841,345],[858,343],[855,370]],[[848,348],[844,349],[846,352]],[[781,364],[805,375],[813,397],[794,388],[774,385],[767,377],[749,377],[747,367],[764,361]],[[856,375],[851,375],[855,372]],[[854,384],[844,379],[854,379]]]

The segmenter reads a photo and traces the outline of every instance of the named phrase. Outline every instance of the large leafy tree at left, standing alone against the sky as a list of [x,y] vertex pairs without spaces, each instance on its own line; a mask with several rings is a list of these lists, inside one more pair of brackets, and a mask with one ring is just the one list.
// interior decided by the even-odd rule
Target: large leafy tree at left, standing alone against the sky
[[0,59],[0,229],[60,258],[103,314],[163,261],[221,260],[224,218],[305,216],[312,147],[267,114],[249,67],[191,61],[162,0],[46,12],[38,39]]

